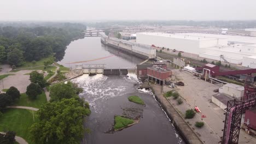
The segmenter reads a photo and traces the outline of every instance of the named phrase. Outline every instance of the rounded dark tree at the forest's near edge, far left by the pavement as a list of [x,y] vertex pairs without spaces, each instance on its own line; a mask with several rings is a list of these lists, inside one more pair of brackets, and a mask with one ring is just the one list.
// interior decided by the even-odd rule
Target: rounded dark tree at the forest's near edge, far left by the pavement
[[24,64],[23,52],[19,49],[13,49],[13,51],[8,52],[7,61],[10,65],[21,66]]

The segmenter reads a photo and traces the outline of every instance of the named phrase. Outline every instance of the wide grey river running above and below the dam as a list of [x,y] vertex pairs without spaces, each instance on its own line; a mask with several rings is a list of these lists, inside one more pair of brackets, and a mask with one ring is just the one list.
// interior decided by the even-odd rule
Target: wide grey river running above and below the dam
[[[69,44],[65,57],[59,63],[74,68],[75,64],[67,63],[107,56],[111,57],[84,64],[106,64],[105,67],[108,68],[135,68],[136,64],[143,61],[141,58],[104,46],[100,37],[85,37]],[[79,96],[89,102],[92,111],[85,122],[85,127],[91,131],[90,134],[85,134],[86,143],[184,143],[154,99],[154,95],[146,90],[137,90],[139,80],[135,74],[83,75],[73,82],[77,82],[84,89]],[[146,106],[131,103],[127,99],[130,95],[141,97]],[[141,117],[141,120],[121,131],[106,133],[113,127],[115,115]]]

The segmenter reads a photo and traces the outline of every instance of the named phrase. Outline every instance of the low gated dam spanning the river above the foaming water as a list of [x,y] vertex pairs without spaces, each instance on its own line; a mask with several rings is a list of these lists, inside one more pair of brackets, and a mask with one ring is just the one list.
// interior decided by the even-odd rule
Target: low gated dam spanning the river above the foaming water
[[83,70],[84,74],[103,74],[103,75],[127,75],[136,73],[136,68],[106,68],[105,64],[76,64],[75,69]]

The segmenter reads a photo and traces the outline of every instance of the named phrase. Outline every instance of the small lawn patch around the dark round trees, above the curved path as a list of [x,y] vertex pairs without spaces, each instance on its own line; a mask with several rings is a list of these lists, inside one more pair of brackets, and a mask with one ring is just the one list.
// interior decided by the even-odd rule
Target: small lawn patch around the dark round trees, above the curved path
[[40,106],[45,103],[47,103],[47,100],[44,92],[40,95],[37,95],[37,99],[33,101],[28,99],[26,93],[22,93],[20,99],[16,101],[15,105],[40,108]]

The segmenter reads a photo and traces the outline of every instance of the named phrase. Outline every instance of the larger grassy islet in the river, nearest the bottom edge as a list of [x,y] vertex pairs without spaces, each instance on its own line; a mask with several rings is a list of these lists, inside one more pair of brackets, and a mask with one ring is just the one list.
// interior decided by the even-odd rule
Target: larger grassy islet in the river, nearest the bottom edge
[[130,118],[125,118],[123,116],[115,116],[114,119],[115,119],[114,131],[123,130],[124,128],[130,127],[131,125],[137,124],[139,122],[139,118],[130,119]]

